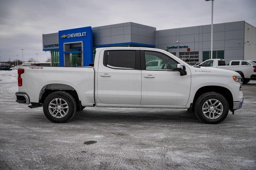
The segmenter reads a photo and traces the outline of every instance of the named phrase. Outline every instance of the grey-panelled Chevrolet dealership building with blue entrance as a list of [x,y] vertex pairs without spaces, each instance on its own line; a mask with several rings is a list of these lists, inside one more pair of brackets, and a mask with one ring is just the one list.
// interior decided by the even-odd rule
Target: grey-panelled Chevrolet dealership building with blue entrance
[[[88,66],[98,47],[158,48],[194,65],[210,59],[211,25],[157,30],[127,22],[61,30],[42,39],[54,66]],[[256,60],[256,27],[245,21],[214,24],[213,58]]]

